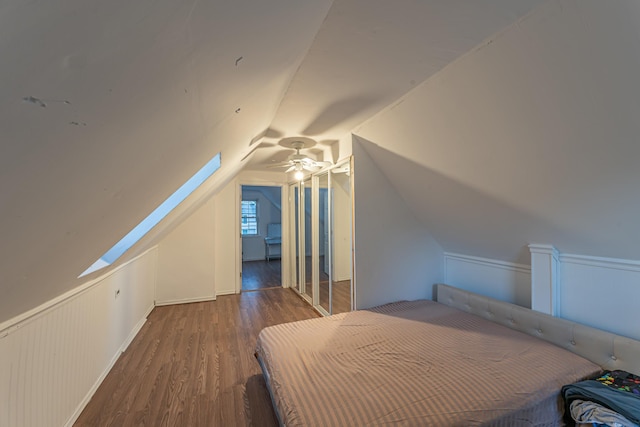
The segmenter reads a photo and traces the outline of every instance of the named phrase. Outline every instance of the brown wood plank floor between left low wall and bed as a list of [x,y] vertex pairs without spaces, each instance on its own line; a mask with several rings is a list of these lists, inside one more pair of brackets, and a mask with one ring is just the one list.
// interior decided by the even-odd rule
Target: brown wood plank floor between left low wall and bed
[[76,426],[275,426],[258,333],[318,317],[292,289],[156,307]]

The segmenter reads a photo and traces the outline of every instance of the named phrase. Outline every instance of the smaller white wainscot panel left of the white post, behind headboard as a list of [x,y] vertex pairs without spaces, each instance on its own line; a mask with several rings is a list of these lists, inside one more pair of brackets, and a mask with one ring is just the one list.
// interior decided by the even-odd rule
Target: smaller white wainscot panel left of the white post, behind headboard
[[445,253],[445,282],[451,286],[531,308],[531,267]]

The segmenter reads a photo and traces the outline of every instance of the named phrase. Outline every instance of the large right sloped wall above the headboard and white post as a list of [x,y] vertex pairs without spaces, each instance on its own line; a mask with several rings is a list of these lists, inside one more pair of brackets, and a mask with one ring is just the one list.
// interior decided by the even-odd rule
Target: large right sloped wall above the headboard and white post
[[636,1],[548,1],[354,132],[449,252],[640,259],[638,22]]

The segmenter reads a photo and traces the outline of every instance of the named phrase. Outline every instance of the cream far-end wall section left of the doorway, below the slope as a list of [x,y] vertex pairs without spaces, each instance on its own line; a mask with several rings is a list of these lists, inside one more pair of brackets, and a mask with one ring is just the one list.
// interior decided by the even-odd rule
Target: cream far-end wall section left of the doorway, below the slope
[[215,205],[202,205],[158,245],[156,304],[215,299]]

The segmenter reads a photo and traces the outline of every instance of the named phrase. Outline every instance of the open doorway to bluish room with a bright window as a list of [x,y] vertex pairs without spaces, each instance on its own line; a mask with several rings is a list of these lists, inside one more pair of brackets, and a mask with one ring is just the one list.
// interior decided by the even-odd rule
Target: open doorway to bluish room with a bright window
[[276,186],[241,186],[243,292],[282,286],[281,192]]

